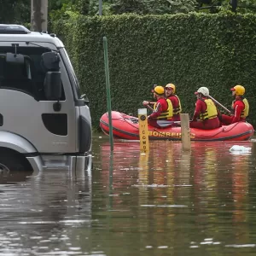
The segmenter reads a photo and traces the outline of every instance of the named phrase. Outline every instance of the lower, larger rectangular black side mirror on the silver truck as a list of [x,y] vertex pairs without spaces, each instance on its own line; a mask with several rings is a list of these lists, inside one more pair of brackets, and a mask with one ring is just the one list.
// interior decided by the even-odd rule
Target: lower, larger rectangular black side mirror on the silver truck
[[44,94],[48,101],[59,101],[61,99],[61,72],[49,71],[45,74]]

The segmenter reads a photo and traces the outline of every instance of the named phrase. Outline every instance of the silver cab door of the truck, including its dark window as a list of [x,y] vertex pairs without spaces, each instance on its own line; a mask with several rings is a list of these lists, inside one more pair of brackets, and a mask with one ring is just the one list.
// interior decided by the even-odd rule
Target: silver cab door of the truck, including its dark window
[[[50,46],[52,47],[52,46]],[[24,63],[9,63],[4,54],[25,55]],[[73,153],[77,117],[73,91],[60,62],[62,92],[59,103],[46,98],[41,55],[50,49],[25,42],[0,43],[0,131],[25,137],[40,153]],[[2,122],[1,122],[2,119]]]

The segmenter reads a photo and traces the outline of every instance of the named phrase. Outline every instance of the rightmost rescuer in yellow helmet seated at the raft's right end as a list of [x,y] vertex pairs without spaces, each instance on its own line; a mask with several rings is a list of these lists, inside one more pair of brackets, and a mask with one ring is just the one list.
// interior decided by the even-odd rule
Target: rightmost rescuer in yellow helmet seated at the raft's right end
[[245,94],[245,88],[241,85],[236,85],[231,88],[232,96],[235,100],[232,102],[232,114],[222,114],[220,116],[220,121],[223,125],[234,124],[239,121],[245,121],[249,114],[249,103],[247,99],[243,97]]

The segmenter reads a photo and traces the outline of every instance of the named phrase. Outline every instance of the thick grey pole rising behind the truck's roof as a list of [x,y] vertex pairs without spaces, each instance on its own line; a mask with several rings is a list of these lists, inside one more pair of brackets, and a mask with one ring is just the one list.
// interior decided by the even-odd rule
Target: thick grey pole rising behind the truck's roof
[[47,31],[48,0],[31,0],[31,30]]

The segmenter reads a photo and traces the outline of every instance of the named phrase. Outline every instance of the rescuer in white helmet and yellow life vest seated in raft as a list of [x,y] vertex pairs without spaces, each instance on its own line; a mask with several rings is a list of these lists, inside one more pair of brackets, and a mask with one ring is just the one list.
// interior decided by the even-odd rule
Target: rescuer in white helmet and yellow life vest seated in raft
[[195,113],[193,115],[192,121],[189,123],[189,127],[202,130],[211,130],[218,128],[218,110],[214,102],[212,102],[212,100],[208,98],[208,88],[199,88],[195,92],[195,95],[197,97],[197,101],[195,102]]

